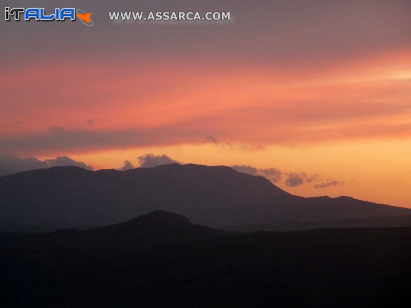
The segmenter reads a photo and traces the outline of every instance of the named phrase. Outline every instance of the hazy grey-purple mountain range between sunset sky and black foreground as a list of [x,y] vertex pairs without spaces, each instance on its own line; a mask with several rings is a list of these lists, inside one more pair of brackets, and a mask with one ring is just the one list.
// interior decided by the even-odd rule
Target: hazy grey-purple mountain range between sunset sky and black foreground
[[226,166],[170,164],[126,171],[52,167],[0,177],[0,223],[110,225],[162,209],[211,227],[411,215],[349,197],[292,196]]

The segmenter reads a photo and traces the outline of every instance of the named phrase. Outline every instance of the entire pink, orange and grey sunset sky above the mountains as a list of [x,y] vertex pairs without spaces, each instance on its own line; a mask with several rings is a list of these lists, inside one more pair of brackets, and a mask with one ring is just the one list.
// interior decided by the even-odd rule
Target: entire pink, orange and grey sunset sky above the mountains
[[[94,169],[153,153],[237,165],[305,197],[411,207],[409,0],[69,6],[92,12],[94,26],[1,18],[0,151]],[[178,10],[232,20],[107,15]]]

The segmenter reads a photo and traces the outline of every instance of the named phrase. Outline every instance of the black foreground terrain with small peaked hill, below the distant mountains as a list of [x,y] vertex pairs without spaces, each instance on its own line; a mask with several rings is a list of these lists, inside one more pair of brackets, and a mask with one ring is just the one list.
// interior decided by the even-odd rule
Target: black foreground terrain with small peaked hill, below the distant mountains
[[229,233],[154,211],[0,237],[0,306],[401,306],[411,228]]

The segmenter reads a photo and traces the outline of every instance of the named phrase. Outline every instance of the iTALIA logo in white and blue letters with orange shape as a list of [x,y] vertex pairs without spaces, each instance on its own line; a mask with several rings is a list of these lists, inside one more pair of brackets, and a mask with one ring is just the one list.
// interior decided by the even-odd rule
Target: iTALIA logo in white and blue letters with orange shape
[[66,20],[75,21],[76,18],[86,26],[92,26],[93,21],[91,19],[91,12],[87,13],[82,9],[75,8],[55,8],[54,11],[46,12],[45,8],[5,8],[5,20],[20,21],[24,20],[29,22],[30,20],[51,22]]

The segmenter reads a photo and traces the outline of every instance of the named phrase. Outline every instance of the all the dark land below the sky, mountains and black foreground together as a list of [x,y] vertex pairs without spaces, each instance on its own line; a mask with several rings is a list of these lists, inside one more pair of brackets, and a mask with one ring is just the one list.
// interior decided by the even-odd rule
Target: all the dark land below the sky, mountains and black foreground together
[[262,177],[192,164],[20,172],[0,177],[0,204],[5,307],[385,307],[407,298],[407,208],[292,196]]

